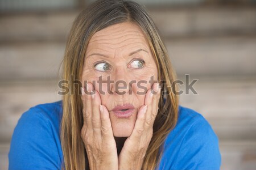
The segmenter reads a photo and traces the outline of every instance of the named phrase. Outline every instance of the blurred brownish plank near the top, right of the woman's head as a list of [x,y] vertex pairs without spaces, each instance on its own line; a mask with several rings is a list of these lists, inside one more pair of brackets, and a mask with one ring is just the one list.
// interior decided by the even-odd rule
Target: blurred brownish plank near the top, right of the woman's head
[[163,37],[254,34],[255,8],[184,8],[151,11]]

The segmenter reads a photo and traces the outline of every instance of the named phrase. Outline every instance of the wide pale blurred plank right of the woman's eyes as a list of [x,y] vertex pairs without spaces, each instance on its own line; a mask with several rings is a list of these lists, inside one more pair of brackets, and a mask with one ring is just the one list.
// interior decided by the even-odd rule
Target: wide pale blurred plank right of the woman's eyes
[[178,75],[248,76],[256,73],[256,39],[224,36],[167,40]]

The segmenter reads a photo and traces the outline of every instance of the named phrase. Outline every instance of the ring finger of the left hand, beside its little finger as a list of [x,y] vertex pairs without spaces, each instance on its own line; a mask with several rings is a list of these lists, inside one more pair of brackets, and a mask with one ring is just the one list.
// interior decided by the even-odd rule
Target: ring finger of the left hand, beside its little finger
[[101,118],[100,118],[100,94],[93,89],[92,94],[92,128],[96,135],[101,135]]

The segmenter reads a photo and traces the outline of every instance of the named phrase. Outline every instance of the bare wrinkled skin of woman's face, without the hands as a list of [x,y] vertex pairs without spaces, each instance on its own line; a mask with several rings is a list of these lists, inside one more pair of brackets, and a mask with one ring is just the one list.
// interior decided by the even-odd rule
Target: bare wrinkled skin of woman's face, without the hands
[[[144,49],[141,52],[135,53],[131,56],[129,54],[138,49]],[[93,53],[104,54],[109,58],[100,55],[93,55]],[[89,56],[89,57],[88,57]],[[131,23],[121,23],[111,25],[108,28],[102,29],[96,32],[86,49],[85,63],[82,70],[82,83],[84,80],[92,82],[98,80],[102,76],[103,80],[106,80],[110,75],[114,82],[117,80],[124,80],[127,84],[126,89],[119,91],[128,92],[128,84],[132,80],[139,82],[139,80],[150,80],[151,76],[157,80],[158,72],[156,69],[156,63],[153,59],[150,46],[146,38],[143,35],[141,29]],[[135,69],[129,67],[134,59],[143,59],[145,65],[141,69]],[[112,66],[109,71],[102,72],[94,68],[95,63],[98,61],[105,61]],[[111,91],[115,91],[115,86],[111,84]],[[119,84],[119,86],[123,86]],[[150,88],[150,84],[142,84],[147,89]],[[99,90],[98,84],[96,84],[96,91]],[[145,95],[136,95],[137,91],[143,92],[143,89],[138,88],[136,84],[133,84],[133,95],[126,93],[125,95],[101,95],[101,104],[105,105],[110,113],[110,120],[112,122],[113,133],[115,137],[129,137],[131,131],[133,131],[134,124],[137,118],[138,109],[144,104]],[[106,84],[102,84],[102,91],[107,92]],[[111,101],[111,102],[110,102]],[[133,116],[128,119],[120,119],[114,116],[112,109],[118,104],[131,103],[137,109]]]

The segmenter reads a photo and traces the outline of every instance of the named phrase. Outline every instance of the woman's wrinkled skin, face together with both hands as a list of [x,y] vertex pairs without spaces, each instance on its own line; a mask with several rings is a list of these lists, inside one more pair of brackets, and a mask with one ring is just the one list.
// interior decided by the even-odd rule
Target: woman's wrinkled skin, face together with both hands
[[[126,88],[118,90],[94,80],[122,80]],[[90,39],[82,70],[82,102],[84,125],[81,137],[85,144],[90,169],[141,169],[147,147],[152,138],[153,124],[158,113],[160,89],[156,64],[150,46],[141,29],[126,22],[111,25],[95,33]],[[89,83],[84,83],[87,80]],[[138,82],[144,80],[141,88]],[[135,82],[129,86],[129,83]],[[119,84],[123,87],[123,84]],[[154,90],[154,94],[150,88]],[[85,94],[84,90],[95,94]],[[105,94],[102,94],[105,92]],[[109,94],[113,92],[113,94]],[[137,94],[143,92],[143,94]],[[130,117],[115,116],[113,108],[134,105]],[[119,137],[127,137],[122,141]]]

